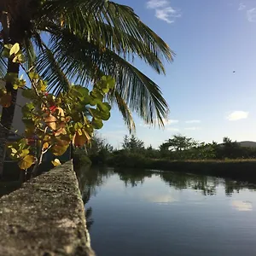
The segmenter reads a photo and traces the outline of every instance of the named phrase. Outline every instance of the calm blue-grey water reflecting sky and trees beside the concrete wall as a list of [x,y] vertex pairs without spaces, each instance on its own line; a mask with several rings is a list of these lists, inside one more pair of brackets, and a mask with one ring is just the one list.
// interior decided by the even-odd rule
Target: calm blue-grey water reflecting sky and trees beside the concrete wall
[[83,183],[98,256],[256,255],[256,188],[216,177],[91,170]]

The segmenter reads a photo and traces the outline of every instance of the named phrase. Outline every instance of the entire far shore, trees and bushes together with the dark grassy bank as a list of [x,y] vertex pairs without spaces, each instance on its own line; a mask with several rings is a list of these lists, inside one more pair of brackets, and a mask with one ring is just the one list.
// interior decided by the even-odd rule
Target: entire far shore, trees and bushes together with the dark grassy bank
[[134,169],[134,172],[187,172],[256,183],[256,148],[241,146],[228,137],[224,137],[223,143],[197,143],[176,135],[155,149],[145,148],[137,137],[125,136],[122,149],[117,150],[96,136],[86,151],[88,157],[82,149],[75,154],[86,164],[91,161],[92,165]]

